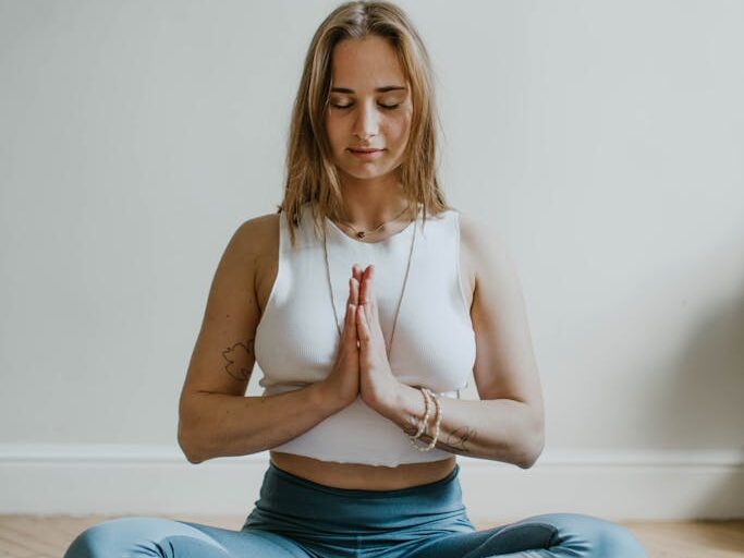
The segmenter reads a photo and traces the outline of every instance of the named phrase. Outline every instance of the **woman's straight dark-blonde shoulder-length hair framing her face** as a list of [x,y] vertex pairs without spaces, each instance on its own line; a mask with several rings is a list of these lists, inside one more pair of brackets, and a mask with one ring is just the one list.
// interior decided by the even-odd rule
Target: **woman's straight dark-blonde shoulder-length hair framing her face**
[[411,84],[413,116],[408,142],[399,167],[404,196],[438,215],[450,208],[437,178],[437,110],[434,72],[418,33],[403,10],[386,1],[345,2],[336,8],[313,36],[294,101],[286,149],[284,211],[292,245],[302,206],[310,204],[315,231],[325,216],[342,213],[343,198],[325,129],[331,87],[331,54],[344,39],[379,36],[393,47]]

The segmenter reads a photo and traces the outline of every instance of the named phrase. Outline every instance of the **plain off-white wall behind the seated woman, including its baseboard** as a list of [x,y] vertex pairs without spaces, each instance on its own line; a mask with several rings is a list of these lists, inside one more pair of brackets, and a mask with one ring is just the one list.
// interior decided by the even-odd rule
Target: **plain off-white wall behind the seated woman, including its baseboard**
[[[111,482],[126,473],[101,475],[118,496],[87,484],[132,457],[220,466],[180,456],[178,398],[228,239],[281,199],[301,64],[334,5],[0,0],[0,511],[149,501]],[[535,511],[744,514],[744,3],[400,5],[435,62],[446,194],[507,240],[545,389],[533,470],[461,462],[545,471]],[[602,497],[622,464],[659,493],[621,474],[625,507]],[[561,466],[596,489],[561,499]],[[195,509],[224,511],[216,486]],[[532,510],[516,500],[498,511]]]

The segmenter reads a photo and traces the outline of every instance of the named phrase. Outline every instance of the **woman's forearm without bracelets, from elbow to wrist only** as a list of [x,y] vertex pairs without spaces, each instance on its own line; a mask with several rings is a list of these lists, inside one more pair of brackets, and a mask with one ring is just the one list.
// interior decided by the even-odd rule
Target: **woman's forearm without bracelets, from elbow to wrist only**
[[181,405],[179,444],[192,463],[271,449],[339,409],[319,384],[277,396],[195,393]]

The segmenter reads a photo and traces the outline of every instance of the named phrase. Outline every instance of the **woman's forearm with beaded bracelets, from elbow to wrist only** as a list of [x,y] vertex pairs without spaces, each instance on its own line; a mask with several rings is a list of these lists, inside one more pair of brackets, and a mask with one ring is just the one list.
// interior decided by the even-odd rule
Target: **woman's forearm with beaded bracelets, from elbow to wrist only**
[[[385,410],[385,416],[398,424],[405,434],[415,435],[425,411],[420,390],[401,385],[392,401]],[[503,461],[523,469],[532,466],[542,450],[541,421],[521,401],[468,401],[448,397],[439,397],[439,401],[442,420],[437,448],[461,456]],[[428,434],[423,434],[417,442],[429,444],[434,438],[436,409],[434,402],[429,407]]]

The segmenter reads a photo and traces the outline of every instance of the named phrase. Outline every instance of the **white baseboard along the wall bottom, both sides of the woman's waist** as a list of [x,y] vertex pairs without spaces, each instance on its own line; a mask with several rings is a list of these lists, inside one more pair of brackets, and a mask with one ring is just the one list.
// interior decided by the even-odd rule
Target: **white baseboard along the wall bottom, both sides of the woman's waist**
[[[544,451],[527,470],[459,456],[473,521],[575,512],[610,520],[744,517],[744,452]],[[188,463],[173,446],[0,445],[0,513],[234,514],[268,452]]]

